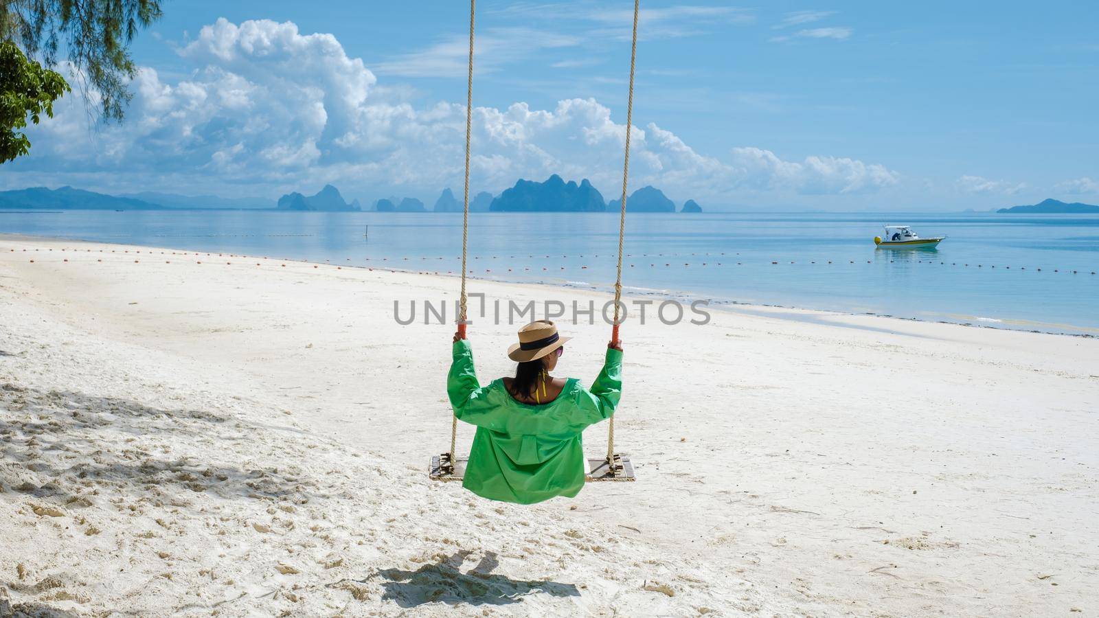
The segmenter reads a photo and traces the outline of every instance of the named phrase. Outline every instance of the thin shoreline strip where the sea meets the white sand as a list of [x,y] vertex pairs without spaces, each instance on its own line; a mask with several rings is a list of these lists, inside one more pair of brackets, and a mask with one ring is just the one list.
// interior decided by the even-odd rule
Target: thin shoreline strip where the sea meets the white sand
[[[388,264],[386,266],[366,266],[366,265],[356,265],[356,264],[349,264],[349,265],[344,266],[342,264],[334,264],[334,263],[331,263],[329,261],[325,261],[325,262],[311,262],[311,261],[308,261],[308,260],[290,260],[290,258],[280,258],[280,257],[271,257],[271,256],[257,256],[257,255],[243,255],[243,254],[223,254],[223,253],[217,253],[217,252],[182,250],[182,249],[175,249],[175,247],[167,247],[167,246],[137,245],[137,244],[129,244],[129,243],[109,243],[109,242],[88,241],[88,240],[75,239],[75,238],[67,238],[67,236],[37,236],[37,235],[27,235],[27,234],[0,233],[0,241],[5,240],[5,239],[7,240],[23,241],[23,242],[44,242],[44,243],[69,242],[69,243],[96,244],[96,245],[113,245],[113,246],[119,246],[119,247],[134,247],[134,249],[138,249],[140,247],[140,249],[143,249],[143,250],[147,249],[147,250],[156,250],[156,251],[177,252],[177,253],[184,253],[184,254],[191,253],[191,254],[195,254],[195,255],[200,255],[201,254],[201,255],[206,255],[206,256],[230,255],[230,256],[237,256],[237,257],[242,257],[242,258],[254,257],[254,258],[262,258],[262,260],[278,260],[278,261],[282,261],[282,262],[296,262],[296,263],[301,263],[301,264],[317,264],[319,266],[320,265],[331,265],[331,266],[337,266],[340,268],[363,268],[363,269],[367,269],[367,271],[378,269],[378,271],[391,272],[391,273],[406,273],[406,274],[417,274],[417,275],[423,275],[423,276],[435,276],[435,277],[446,277],[446,278],[458,278],[459,277],[459,275],[455,275],[453,273],[437,273],[437,272],[415,271],[415,269],[412,269],[412,268],[399,268],[399,267],[392,267],[392,266],[390,266]],[[478,280],[478,282],[489,282],[489,283],[501,284],[501,285],[541,286],[541,287],[545,287],[545,288],[550,288],[550,289],[584,290],[584,291],[592,291],[592,293],[597,293],[597,294],[613,295],[613,290],[610,287],[603,288],[603,287],[600,287],[600,286],[593,286],[591,284],[587,284],[587,283],[582,283],[582,282],[567,282],[567,280],[566,282],[550,282],[550,280],[533,280],[533,282],[530,282],[530,280],[520,280],[520,279],[509,279],[507,277],[484,277],[484,276],[479,276],[479,275],[469,275],[469,276],[467,276],[467,279],[469,279],[469,280]],[[747,310],[786,309],[786,310],[795,311],[795,313],[789,314],[788,318],[787,318],[787,319],[791,319],[791,320],[806,319],[806,320],[809,320],[809,321],[815,321],[815,319],[813,318],[813,314],[825,314],[825,316],[835,316],[835,317],[859,317],[859,316],[868,316],[868,317],[875,317],[875,318],[881,318],[881,319],[888,319],[888,320],[901,320],[901,321],[906,321],[906,322],[953,324],[953,325],[958,325],[958,327],[976,328],[976,329],[1003,330],[1003,331],[1011,331],[1011,332],[1029,332],[1029,333],[1035,333],[1035,334],[1054,334],[1054,335],[1083,338],[1083,339],[1097,339],[1097,338],[1099,338],[1099,329],[1091,328],[1091,327],[1080,327],[1080,325],[1075,325],[1075,324],[1051,324],[1051,323],[1044,323],[1044,322],[1029,322],[1029,321],[1024,321],[1024,320],[995,319],[995,321],[997,322],[997,324],[1004,324],[1004,323],[1012,323],[1012,322],[1014,322],[1014,323],[1026,322],[1026,323],[1035,324],[1037,327],[1045,327],[1045,329],[1043,329],[1043,328],[1029,328],[1026,325],[1021,325],[1021,324],[1020,325],[997,325],[997,324],[992,324],[992,323],[979,323],[979,322],[985,321],[985,320],[992,321],[993,319],[991,319],[991,318],[981,318],[981,317],[978,317],[978,316],[970,316],[970,317],[966,317],[966,318],[961,318],[959,317],[957,319],[957,321],[952,321],[952,320],[943,320],[943,319],[923,319],[923,318],[915,318],[915,317],[901,317],[901,316],[893,316],[893,314],[889,314],[889,313],[880,313],[880,312],[874,312],[874,311],[864,311],[864,312],[858,312],[858,311],[840,311],[840,310],[832,310],[832,309],[817,309],[817,308],[812,308],[812,307],[802,307],[802,306],[797,306],[797,305],[778,305],[778,304],[764,304],[764,302],[743,302],[743,301],[739,301],[739,300],[713,300],[712,298],[707,299],[706,295],[698,295],[698,296],[695,296],[692,298],[690,296],[689,291],[652,290],[652,289],[641,288],[641,287],[635,287],[635,286],[623,286],[623,291],[629,293],[630,296],[659,297],[659,298],[667,298],[667,299],[686,300],[688,302],[691,301],[691,300],[703,300],[703,299],[706,299],[710,304],[708,307],[709,308],[715,308],[715,309],[728,309],[728,308],[741,308],[741,309],[747,309]],[[966,321],[966,320],[968,320],[968,321]],[[609,324],[609,322],[608,322],[608,324]],[[1064,329],[1074,329],[1074,330],[1077,330],[1077,331],[1085,331],[1085,332],[1066,332],[1064,330],[1050,330],[1050,329],[1056,329],[1058,327],[1064,328]],[[1087,331],[1092,331],[1092,332],[1087,332]]]

